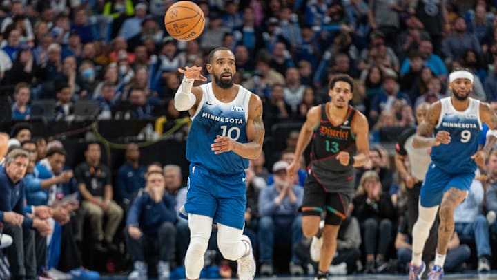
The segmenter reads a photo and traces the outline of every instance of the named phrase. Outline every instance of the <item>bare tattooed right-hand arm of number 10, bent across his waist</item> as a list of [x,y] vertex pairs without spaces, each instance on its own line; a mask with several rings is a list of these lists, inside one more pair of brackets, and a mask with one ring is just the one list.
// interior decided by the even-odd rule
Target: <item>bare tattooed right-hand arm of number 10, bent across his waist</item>
[[218,153],[233,151],[243,158],[259,158],[264,142],[264,122],[262,122],[262,101],[257,95],[251,95],[249,103],[249,118],[246,123],[246,143],[236,142],[228,136],[217,136],[211,149]]

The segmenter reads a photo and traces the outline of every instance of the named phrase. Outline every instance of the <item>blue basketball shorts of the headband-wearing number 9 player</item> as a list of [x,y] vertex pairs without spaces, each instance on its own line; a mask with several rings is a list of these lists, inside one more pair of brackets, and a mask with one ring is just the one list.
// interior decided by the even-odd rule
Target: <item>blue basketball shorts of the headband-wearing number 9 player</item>
[[431,162],[425,177],[425,182],[421,186],[421,206],[433,207],[440,205],[440,203],[442,203],[443,194],[451,187],[469,191],[474,177],[474,172],[450,174]]

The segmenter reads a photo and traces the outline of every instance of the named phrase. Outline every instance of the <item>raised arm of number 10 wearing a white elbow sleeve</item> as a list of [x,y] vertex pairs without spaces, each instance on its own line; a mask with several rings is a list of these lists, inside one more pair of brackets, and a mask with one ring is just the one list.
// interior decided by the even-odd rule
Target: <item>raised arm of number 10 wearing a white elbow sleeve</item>
[[207,78],[200,74],[202,67],[186,66],[184,69],[178,68],[178,72],[184,74],[182,83],[175,94],[175,108],[177,111],[187,111],[190,115],[195,115],[197,107],[202,100],[202,89],[193,87],[195,80],[206,81]]

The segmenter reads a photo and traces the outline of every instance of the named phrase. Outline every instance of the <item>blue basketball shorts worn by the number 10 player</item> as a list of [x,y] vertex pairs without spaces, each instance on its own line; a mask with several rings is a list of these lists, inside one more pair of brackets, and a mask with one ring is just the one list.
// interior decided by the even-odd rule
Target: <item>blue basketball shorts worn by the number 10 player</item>
[[246,209],[245,179],[245,171],[222,176],[191,164],[185,212],[209,216],[214,223],[242,230]]

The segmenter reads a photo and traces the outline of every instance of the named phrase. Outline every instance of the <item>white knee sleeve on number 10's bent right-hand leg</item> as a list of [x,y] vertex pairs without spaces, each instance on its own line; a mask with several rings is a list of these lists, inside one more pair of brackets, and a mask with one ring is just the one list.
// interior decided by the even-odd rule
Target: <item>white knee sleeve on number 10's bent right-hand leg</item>
[[236,261],[246,253],[246,245],[242,241],[243,231],[227,225],[218,225],[217,247],[224,259]]

